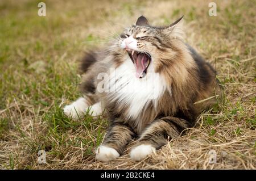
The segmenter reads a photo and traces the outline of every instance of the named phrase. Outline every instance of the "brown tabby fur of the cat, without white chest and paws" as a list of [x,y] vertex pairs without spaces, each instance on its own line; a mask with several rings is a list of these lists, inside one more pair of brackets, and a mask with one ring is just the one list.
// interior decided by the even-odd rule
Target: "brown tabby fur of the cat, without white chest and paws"
[[134,37],[143,33],[146,39],[138,41],[138,48],[154,55],[151,63],[155,72],[164,77],[168,85],[157,104],[148,102],[138,119],[127,119],[129,105],[112,101],[111,93],[100,93],[96,89],[98,73],[109,73],[109,68],[122,65],[128,57],[126,50],[113,45],[104,53],[91,53],[84,60],[84,65],[89,66],[84,68],[83,92],[90,104],[99,101],[104,104],[105,116],[111,125],[104,145],[114,148],[119,154],[137,135],[140,135],[137,145],[150,144],[155,148],[166,144],[167,138],[179,136],[184,129],[195,124],[196,117],[214,99],[194,103],[213,96],[214,91],[218,94],[220,90],[212,66],[184,43],[180,27],[176,27],[178,22],[170,27],[151,27],[145,19],[141,19],[137,21],[137,26],[125,32],[134,33]]

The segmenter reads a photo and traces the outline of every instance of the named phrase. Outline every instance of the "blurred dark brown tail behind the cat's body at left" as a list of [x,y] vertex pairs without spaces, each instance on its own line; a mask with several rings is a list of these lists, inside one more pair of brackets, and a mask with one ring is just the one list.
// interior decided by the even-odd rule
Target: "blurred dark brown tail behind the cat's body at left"
[[86,52],[84,58],[82,58],[80,63],[80,71],[82,74],[86,73],[86,71],[97,61],[97,54],[94,51]]

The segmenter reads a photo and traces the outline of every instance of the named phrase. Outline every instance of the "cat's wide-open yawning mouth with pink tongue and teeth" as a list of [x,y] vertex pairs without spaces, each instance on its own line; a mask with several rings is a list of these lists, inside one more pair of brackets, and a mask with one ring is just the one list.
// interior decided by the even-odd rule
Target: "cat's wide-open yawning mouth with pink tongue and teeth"
[[143,78],[147,74],[147,68],[151,62],[151,56],[148,53],[142,53],[135,50],[127,50],[136,69],[136,77]]

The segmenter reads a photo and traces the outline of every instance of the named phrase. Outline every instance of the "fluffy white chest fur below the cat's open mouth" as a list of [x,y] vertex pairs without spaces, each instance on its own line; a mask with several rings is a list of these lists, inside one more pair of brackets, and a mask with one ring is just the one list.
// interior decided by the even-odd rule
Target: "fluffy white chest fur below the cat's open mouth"
[[[150,71],[150,69],[148,69]],[[128,117],[137,119],[143,107],[152,101],[156,106],[158,99],[166,90],[166,82],[159,73],[147,72],[142,79],[135,77],[133,62],[127,59],[110,73],[108,84],[110,100],[129,107]]]

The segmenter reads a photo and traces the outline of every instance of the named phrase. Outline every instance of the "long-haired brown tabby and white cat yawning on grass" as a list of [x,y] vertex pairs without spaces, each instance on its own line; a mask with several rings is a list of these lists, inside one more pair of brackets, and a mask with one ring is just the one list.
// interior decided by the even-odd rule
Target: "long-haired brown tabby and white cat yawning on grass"
[[118,158],[136,138],[130,158],[140,161],[193,127],[216,102],[216,73],[184,43],[181,19],[154,27],[140,16],[112,45],[82,60],[84,96],[65,106],[64,113],[77,119],[89,108],[92,116],[110,121],[96,149],[98,161]]

